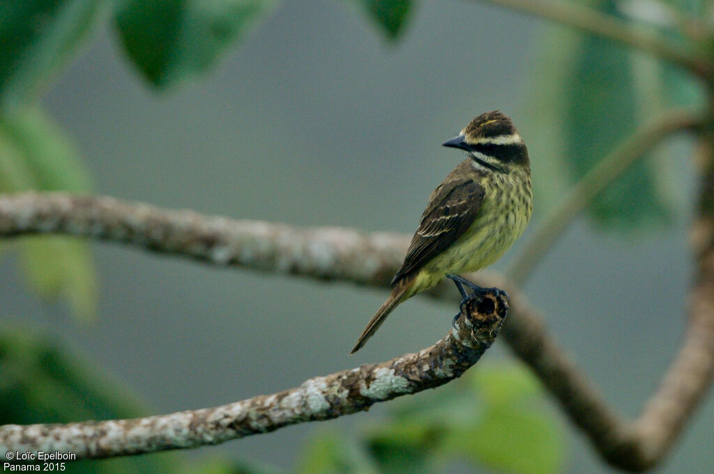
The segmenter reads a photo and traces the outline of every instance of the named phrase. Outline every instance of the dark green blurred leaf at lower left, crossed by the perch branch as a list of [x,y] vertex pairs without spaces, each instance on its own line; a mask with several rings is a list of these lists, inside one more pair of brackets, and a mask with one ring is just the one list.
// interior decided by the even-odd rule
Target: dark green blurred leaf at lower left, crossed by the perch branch
[[[100,373],[102,375],[100,375]],[[134,418],[144,408],[126,388],[29,328],[0,327],[0,425]],[[176,473],[176,453],[75,461],[72,473]]]

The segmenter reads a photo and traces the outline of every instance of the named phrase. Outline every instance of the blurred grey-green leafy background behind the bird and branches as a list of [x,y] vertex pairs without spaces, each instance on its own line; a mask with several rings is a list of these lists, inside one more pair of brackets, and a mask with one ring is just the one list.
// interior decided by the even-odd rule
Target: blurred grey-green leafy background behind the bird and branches
[[[3,2],[0,39],[2,190],[96,191],[301,226],[413,231],[461,159],[438,143],[501,109],[531,151],[532,231],[636,123],[698,99],[648,57],[478,3]],[[691,269],[690,149],[665,151],[605,193],[526,286],[630,415],[678,343]],[[448,321],[434,317],[443,306],[411,301],[348,358],[383,292],[66,238],[6,243],[3,256],[3,423],[228,403],[413,351]],[[78,468],[174,472],[188,457],[216,473],[608,472],[503,348],[471,372],[368,414]],[[658,472],[704,472],[713,420],[709,402]]]

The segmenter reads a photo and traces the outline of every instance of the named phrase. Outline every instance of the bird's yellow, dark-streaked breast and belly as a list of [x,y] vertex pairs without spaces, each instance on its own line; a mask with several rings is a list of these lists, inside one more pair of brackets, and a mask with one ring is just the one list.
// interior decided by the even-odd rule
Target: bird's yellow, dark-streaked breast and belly
[[501,182],[486,183],[481,211],[471,227],[418,273],[415,293],[435,286],[446,275],[477,271],[491,265],[526,230],[533,209],[530,177],[496,176],[494,179]]

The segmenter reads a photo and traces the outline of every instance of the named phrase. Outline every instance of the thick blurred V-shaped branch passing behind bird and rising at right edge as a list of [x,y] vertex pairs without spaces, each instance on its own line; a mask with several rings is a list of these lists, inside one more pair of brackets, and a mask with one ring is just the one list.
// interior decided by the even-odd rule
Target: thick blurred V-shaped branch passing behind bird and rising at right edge
[[[714,177],[710,177],[714,183]],[[702,206],[705,209],[704,206]],[[714,191],[698,228],[702,257],[714,262]],[[711,222],[710,222],[711,221]],[[387,287],[401,264],[407,236],[363,234],[341,228],[293,228],[284,224],[231,221],[191,211],[166,211],[114,198],[66,193],[0,195],[0,237],[68,233],[131,243],[151,251],[189,256],[208,263],[256,268],[318,279]],[[707,247],[708,246],[708,247]],[[708,260],[707,260],[708,259]],[[714,266],[714,264],[713,264]],[[511,318],[503,336],[533,368],[565,413],[613,465],[643,470],[662,460],[696,407],[714,370],[714,270],[700,273],[690,328],[658,392],[635,422],[619,417],[548,336],[538,313],[518,288],[481,272],[469,276],[481,286],[511,295]],[[456,301],[446,283],[429,294]],[[650,429],[656,427],[656,430]],[[647,429],[645,429],[647,428]]]

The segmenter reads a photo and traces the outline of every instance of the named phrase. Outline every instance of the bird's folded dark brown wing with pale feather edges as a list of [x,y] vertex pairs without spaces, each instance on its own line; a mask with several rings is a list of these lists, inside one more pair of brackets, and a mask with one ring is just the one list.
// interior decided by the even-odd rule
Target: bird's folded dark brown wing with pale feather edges
[[484,190],[471,178],[441,183],[434,190],[421,216],[392,285],[408,273],[420,270],[428,261],[451,246],[466,232],[478,215]]

